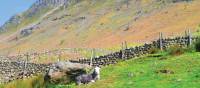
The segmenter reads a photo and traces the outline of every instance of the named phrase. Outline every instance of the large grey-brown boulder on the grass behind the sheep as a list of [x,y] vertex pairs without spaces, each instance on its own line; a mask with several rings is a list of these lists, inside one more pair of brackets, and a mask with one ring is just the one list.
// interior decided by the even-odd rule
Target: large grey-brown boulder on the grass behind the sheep
[[45,81],[52,84],[68,84],[75,81],[75,77],[90,70],[86,64],[72,62],[58,62],[52,64],[45,75]]

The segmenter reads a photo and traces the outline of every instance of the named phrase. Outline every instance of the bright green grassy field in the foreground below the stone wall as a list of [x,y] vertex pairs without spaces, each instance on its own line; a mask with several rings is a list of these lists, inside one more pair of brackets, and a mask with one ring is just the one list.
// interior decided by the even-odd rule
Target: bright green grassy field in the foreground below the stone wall
[[[37,81],[34,81],[37,80]],[[20,80],[2,88],[44,88],[42,77]],[[200,53],[148,55],[103,67],[101,80],[78,88],[200,88]],[[48,88],[74,88],[48,85]]]

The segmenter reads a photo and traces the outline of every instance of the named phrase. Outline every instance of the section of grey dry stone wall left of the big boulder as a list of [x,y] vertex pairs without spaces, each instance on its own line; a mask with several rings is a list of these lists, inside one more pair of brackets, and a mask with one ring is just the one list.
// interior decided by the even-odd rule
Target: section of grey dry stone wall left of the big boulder
[[25,62],[0,62],[0,82],[8,83],[16,79],[23,79],[45,73],[49,68],[46,64]]

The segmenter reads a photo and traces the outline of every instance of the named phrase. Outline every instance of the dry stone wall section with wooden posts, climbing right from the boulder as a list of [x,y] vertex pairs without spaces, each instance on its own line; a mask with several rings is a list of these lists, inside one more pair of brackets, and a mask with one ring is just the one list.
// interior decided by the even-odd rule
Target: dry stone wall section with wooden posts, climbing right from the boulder
[[[181,46],[187,47],[189,46],[189,41],[192,40],[195,42],[198,38],[189,38],[189,37],[176,37],[176,38],[167,38],[167,39],[159,39],[157,41],[153,41],[150,44],[144,44],[142,46],[137,46],[134,48],[128,48],[124,50],[120,50],[119,52],[114,52],[105,56],[95,57],[92,59],[93,66],[105,66],[109,64],[115,64],[121,60],[127,60],[135,57],[139,57],[145,54],[149,54],[152,48],[160,48],[167,49],[170,46]],[[162,42],[162,45],[160,45]],[[71,60],[75,63],[82,64],[90,64],[91,59],[79,59],[78,61]]]

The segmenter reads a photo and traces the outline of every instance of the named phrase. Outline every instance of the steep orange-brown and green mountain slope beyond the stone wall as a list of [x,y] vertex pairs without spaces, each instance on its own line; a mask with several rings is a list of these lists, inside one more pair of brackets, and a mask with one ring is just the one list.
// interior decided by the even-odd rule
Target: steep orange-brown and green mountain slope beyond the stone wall
[[175,36],[186,28],[195,31],[200,24],[199,0],[58,0],[56,5],[53,1],[39,4],[39,11],[31,17],[24,14],[34,10],[24,12],[15,26],[11,21],[1,28],[2,54],[110,48],[123,41],[138,44],[156,39],[159,32]]

